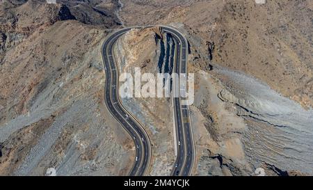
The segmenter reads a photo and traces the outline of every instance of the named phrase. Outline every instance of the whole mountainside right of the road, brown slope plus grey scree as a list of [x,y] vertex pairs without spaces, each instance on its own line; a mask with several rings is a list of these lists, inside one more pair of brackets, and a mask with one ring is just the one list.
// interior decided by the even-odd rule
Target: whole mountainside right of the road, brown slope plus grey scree
[[195,175],[312,173],[312,2],[122,3],[126,26],[170,24],[188,39]]

